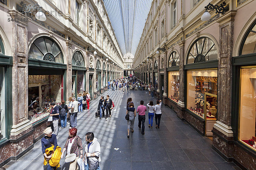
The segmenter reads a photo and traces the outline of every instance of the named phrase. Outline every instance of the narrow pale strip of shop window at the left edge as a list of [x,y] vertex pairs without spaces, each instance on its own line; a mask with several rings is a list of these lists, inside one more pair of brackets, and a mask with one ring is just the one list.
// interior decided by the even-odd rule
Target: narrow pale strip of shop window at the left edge
[[0,140],[6,137],[5,114],[5,74],[4,67],[0,67]]

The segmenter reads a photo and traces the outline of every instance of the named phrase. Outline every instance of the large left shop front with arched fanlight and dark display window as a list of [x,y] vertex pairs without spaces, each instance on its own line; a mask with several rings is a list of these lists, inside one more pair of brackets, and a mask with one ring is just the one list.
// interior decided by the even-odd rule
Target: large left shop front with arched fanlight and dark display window
[[[49,37],[37,38],[29,48],[28,56],[28,119],[37,131],[47,126],[44,122],[49,116],[49,103],[60,104],[65,98],[66,65],[61,48]],[[40,135],[35,133],[34,137]]]

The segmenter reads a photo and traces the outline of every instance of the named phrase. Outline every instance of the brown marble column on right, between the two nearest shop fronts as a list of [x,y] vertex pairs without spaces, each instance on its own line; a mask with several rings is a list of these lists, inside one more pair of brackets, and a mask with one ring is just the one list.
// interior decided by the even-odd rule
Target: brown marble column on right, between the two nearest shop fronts
[[[223,17],[217,20],[219,23],[219,59],[218,59],[218,119],[214,124],[215,133],[221,132],[225,139],[233,139],[233,131],[231,127],[232,112],[232,53],[233,53],[233,29],[234,16],[236,11],[229,11]],[[214,132],[213,132],[214,133]],[[218,137],[213,144],[220,146]]]

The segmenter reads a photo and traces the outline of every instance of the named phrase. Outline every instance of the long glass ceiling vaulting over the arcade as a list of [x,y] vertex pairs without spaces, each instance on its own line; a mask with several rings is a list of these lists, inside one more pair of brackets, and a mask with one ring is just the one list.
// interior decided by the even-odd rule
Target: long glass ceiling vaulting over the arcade
[[152,0],[103,0],[122,54],[135,55]]

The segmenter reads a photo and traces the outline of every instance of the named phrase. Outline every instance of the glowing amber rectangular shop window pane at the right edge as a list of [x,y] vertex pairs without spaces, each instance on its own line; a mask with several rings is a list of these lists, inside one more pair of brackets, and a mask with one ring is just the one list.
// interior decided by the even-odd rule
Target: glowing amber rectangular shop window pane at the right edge
[[240,70],[239,140],[256,150],[256,67]]

